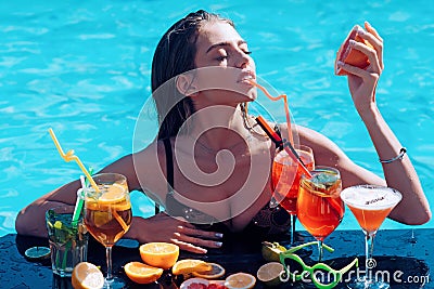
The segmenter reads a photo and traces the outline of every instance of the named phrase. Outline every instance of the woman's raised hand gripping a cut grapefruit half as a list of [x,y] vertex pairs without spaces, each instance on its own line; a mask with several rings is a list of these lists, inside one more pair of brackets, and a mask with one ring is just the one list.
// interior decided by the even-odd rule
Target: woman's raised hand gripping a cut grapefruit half
[[366,31],[359,34],[359,36],[367,40],[372,48],[355,40],[349,40],[349,44],[366,54],[370,65],[366,69],[360,69],[342,62],[337,63],[337,66],[349,73],[349,92],[360,116],[375,105],[375,88],[384,68],[383,39],[368,22],[365,22],[365,28]]

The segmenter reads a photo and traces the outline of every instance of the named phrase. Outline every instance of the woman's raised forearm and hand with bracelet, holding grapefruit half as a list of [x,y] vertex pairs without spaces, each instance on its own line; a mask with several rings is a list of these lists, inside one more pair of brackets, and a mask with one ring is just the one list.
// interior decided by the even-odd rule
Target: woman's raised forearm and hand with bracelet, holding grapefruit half
[[[368,68],[360,69],[343,63],[339,66],[349,73],[348,87],[353,102],[375,146],[379,159],[388,160],[395,158],[403,146],[383,119],[375,102],[375,88],[383,70],[383,39],[368,23],[365,23],[365,28],[367,31],[360,36],[373,48],[355,41],[350,45],[368,56]],[[383,171],[387,185],[403,194],[403,200],[390,216],[407,224],[430,221],[430,206],[409,157],[405,155],[403,159],[383,163]]]

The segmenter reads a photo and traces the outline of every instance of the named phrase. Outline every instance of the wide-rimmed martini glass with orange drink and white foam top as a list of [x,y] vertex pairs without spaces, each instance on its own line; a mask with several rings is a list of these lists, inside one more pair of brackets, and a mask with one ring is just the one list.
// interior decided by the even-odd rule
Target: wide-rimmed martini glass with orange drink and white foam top
[[342,191],[342,200],[348,206],[356,216],[357,222],[365,233],[366,248],[366,276],[348,285],[350,288],[390,288],[383,280],[372,278],[373,239],[375,234],[391,213],[393,208],[401,200],[403,195],[391,187],[376,185],[357,185]]

